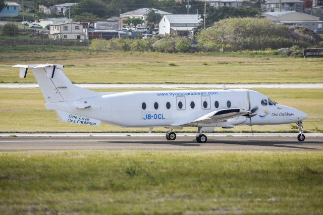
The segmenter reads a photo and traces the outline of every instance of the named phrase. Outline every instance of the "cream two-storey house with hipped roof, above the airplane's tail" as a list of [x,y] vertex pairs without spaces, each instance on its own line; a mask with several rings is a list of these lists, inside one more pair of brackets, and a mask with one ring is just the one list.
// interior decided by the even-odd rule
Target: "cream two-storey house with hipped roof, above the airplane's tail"
[[53,39],[87,39],[87,28],[76,22],[50,25],[49,38]]

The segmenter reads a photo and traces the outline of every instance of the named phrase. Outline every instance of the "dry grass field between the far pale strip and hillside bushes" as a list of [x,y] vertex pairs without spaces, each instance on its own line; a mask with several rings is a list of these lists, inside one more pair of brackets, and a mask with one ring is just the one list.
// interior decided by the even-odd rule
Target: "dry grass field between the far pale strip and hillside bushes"
[[[323,59],[285,58],[266,52],[101,52],[87,47],[0,46],[0,82],[20,79],[16,64],[64,64],[74,83],[323,83]],[[170,66],[173,63],[175,66]]]

